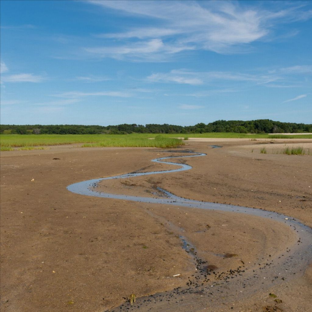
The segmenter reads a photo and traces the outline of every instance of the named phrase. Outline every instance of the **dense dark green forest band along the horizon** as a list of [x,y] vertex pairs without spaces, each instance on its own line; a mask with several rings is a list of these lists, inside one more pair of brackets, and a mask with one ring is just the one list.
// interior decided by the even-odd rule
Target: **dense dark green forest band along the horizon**
[[0,125],[2,134],[130,134],[130,133],[301,133],[312,132],[312,124],[296,124],[269,119],[250,121],[217,120],[209,124],[199,123],[194,126],[173,124],[119,124],[116,126],[85,125]]

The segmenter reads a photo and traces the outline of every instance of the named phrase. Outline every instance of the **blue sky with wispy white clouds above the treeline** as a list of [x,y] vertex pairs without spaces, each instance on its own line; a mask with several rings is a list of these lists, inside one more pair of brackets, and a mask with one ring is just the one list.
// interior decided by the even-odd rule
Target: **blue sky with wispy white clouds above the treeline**
[[7,1],[1,124],[312,123],[311,1]]

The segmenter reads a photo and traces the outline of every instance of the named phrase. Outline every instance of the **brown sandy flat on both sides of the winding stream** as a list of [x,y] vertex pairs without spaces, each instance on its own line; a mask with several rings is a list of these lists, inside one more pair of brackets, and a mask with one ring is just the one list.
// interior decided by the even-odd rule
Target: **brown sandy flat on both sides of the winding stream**
[[[208,154],[174,160],[192,170],[103,181],[101,188],[148,197],[160,186],[181,197],[282,212],[312,226],[312,156],[270,154],[273,147],[284,148],[285,139],[278,142],[189,141],[181,149]],[[268,154],[260,154],[264,146]],[[285,226],[257,217],[66,190],[91,178],[171,169],[150,162],[169,155],[161,149],[77,146],[2,152],[1,310],[96,312],[121,304],[131,293],[140,297],[185,285],[194,264],[176,237],[181,229],[203,259],[224,270],[241,261],[252,269],[257,259],[278,256],[294,241]],[[237,256],[214,256],[225,253]],[[283,299],[280,309],[308,311],[311,271],[272,290]],[[237,311],[262,311],[270,305],[275,303],[264,290],[234,306]]]

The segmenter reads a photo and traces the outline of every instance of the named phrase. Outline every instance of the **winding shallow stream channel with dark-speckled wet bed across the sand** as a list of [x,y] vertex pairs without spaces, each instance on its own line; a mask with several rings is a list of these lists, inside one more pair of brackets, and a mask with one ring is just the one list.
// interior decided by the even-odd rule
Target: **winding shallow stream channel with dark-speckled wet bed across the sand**
[[[168,151],[172,152],[172,151]],[[192,153],[191,151],[183,151],[183,153]],[[111,311],[149,311],[157,309],[157,311],[200,311],[204,308],[218,306],[229,307],[229,302],[242,300],[247,296],[251,296],[256,292],[266,290],[274,285],[284,283],[284,280],[289,281],[292,278],[302,274],[308,264],[311,262],[312,255],[312,229],[304,224],[296,221],[292,217],[287,217],[276,212],[266,210],[248,208],[241,206],[225,205],[210,202],[201,202],[191,199],[186,199],[173,195],[172,193],[158,189],[164,193],[163,198],[127,196],[118,194],[108,194],[98,192],[96,188],[102,180],[130,178],[135,176],[172,173],[183,170],[189,170],[192,167],[182,163],[172,163],[162,161],[168,158],[176,157],[198,157],[205,156],[202,153],[193,153],[188,156],[171,156],[153,159],[153,162],[165,163],[179,166],[178,169],[163,170],[157,172],[144,173],[127,173],[118,176],[92,179],[71,184],[67,189],[73,193],[78,193],[87,196],[96,196],[104,198],[114,198],[130,200],[135,202],[158,203],[166,205],[174,205],[180,207],[200,208],[209,210],[218,210],[226,212],[236,212],[248,214],[251,216],[263,217],[265,219],[273,219],[288,225],[297,235],[297,242],[287,247],[284,253],[272,258],[269,255],[263,255],[262,260],[255,267],[249,270],[242,263],[236,270],[222,272],[216,270],[213,272],[207,271],[207,261],[197,257],[195,246],[192,246],[186,241],[186,238],[180,235],[184,249],[192,256],[196,271],[192,276],[189,276],[188,283],[185,287],[178,287],[171,291],[158,293],[147,297],[137,298],[135,306],[130,306],[129,303],[115,308]],[[287,218],[287,219],[285,219]],[[264,220],[264,222],[266,222]],[[169,225],[170,226],[170,225]],[[277,242],[278,243],[278,242]],[[213,276],[213,281],[209,277]],[[217,280],[216,280],[217,279]],[[126,298],[125,298],[126,299]],[[200,299],[200,300],[198,300]],[[224,305],[226,304],[226,305]]]

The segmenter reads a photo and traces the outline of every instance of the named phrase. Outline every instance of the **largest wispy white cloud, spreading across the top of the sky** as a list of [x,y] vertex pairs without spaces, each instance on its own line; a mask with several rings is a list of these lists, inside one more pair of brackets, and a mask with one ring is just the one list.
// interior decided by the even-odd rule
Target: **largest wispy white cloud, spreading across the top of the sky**
[[[98,57],[127,60],[163,61],[186,50],[209,50],[217,53],[248,51],[255,41],[265,40],[279,23],[311,17],[305,4],[276,4],[271,11],[244,2],[195,1],[99,1],[89,4],[110,8],[121,14],[149,17],[149,23],[120,33],[102,33],[100,38],[114,39],[111,46],[88,47]],[[119,45],[119,40],[128,40]],[[117,40],[117,41],[116,41]]]

